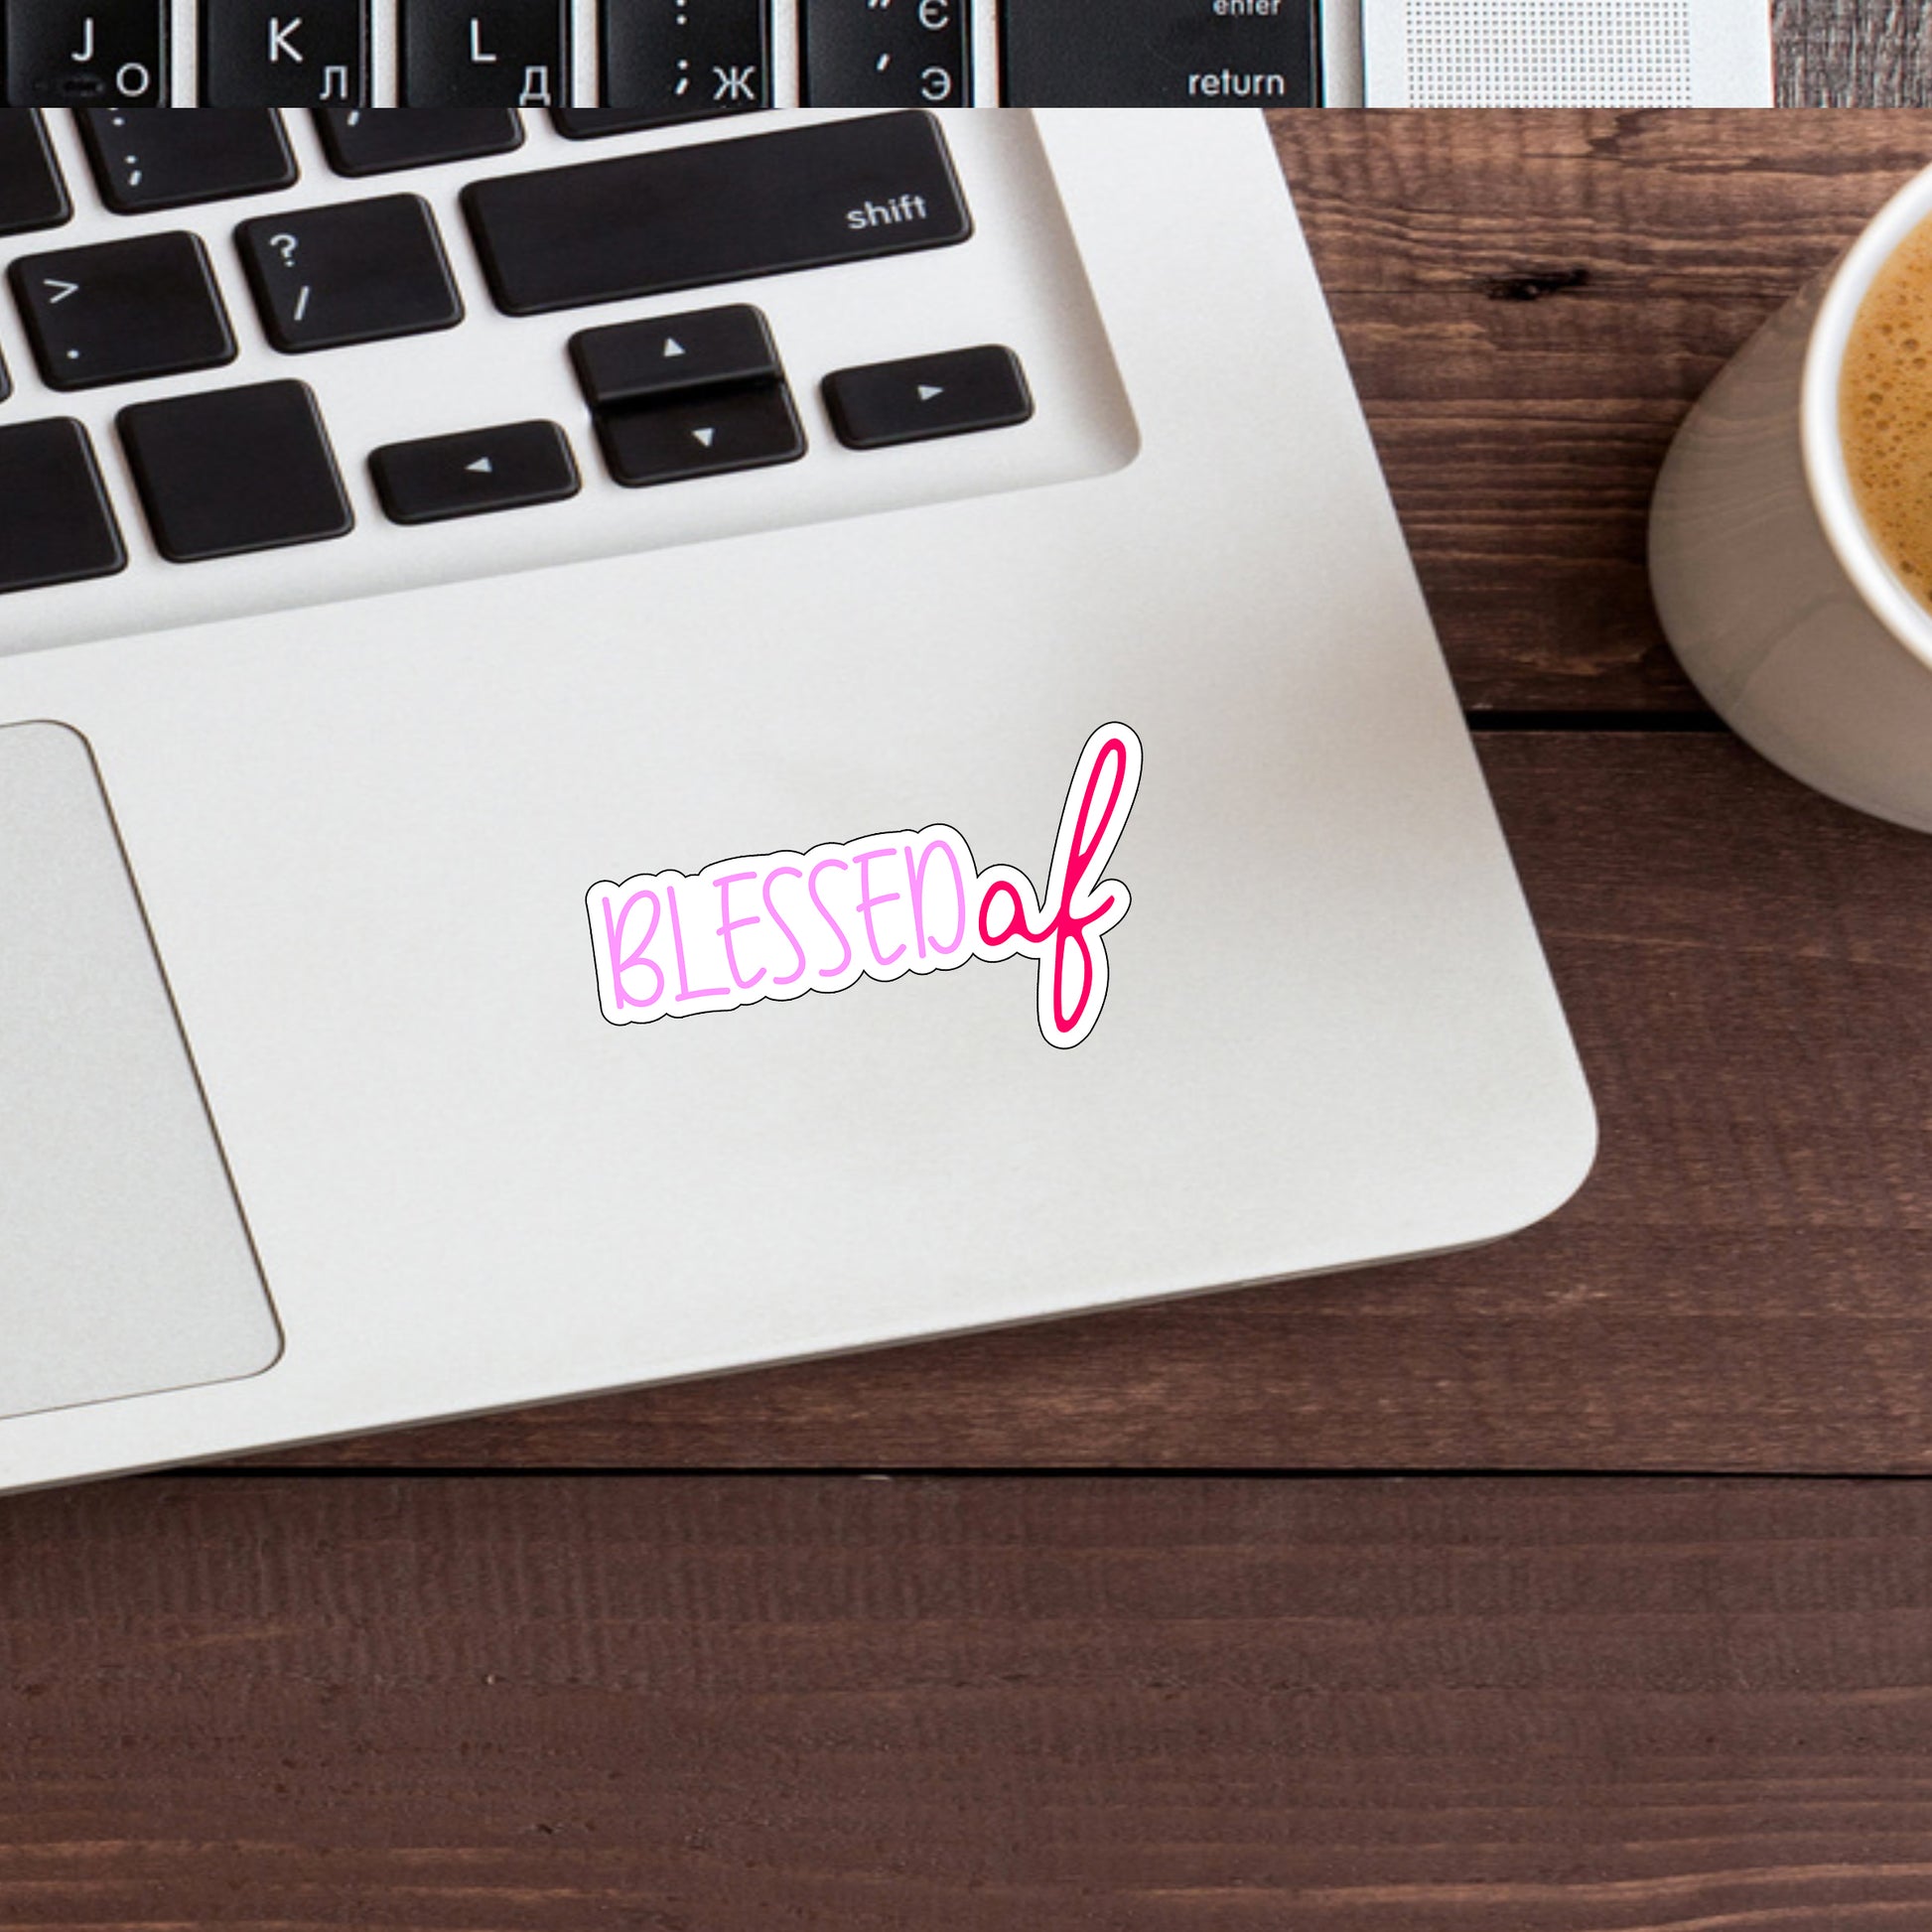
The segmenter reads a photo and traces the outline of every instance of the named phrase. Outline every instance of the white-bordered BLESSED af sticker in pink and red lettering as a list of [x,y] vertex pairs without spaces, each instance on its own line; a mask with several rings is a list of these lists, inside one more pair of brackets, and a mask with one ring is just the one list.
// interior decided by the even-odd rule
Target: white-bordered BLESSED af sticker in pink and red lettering
[[951,825],[599,879],[583,904],[603,1016],[647,1024],[1028,958],[1041,1036],[1078,1047],[1107,1003],[1107,933],[1130,904],[1105,871],[1138,788],[1140,740],[1101,724],[1074,765],[1045,893],[1016,866],[981,869]]

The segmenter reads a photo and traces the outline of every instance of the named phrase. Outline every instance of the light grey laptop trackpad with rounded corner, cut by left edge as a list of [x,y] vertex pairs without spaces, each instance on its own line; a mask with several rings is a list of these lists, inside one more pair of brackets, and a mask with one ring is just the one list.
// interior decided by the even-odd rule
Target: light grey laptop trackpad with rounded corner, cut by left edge
[[0,1416],[278,1352],[93,755],[0,728]]

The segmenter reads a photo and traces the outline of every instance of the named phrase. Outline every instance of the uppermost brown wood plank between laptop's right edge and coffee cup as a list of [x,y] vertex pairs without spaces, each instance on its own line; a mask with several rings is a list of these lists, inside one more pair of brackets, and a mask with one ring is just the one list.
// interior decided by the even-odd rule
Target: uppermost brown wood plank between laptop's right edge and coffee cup
[[1464,701],[1698,709],[1644,522],[1685,410],[1932,160],[1922,114],[1273,116]]

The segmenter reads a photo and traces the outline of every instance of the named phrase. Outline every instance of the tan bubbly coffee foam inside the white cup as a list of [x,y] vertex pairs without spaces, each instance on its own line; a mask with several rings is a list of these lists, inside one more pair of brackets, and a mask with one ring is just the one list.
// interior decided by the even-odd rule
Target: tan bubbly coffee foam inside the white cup
[[1932,222],[1878,270],[1851,325],[1837,435],[1864,527],[1932,609]]

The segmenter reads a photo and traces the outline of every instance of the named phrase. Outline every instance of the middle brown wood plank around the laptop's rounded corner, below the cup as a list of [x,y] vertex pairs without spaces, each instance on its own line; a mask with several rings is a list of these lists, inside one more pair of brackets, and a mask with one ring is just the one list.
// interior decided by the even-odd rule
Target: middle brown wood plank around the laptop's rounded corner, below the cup
[[1546,1227],[294,1459],[1932,1470],[1932,840],[1716,734],[1482,753],[1604,1122]]

